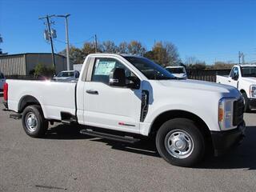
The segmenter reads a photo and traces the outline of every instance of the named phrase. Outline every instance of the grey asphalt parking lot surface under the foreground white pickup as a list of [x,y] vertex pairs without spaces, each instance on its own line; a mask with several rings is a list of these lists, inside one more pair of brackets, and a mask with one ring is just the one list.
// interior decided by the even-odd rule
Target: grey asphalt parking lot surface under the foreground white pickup
[[46,138],[30,138],[22,122],[0,108],[0,191],[256,191],[253,113],[245,114],[242,146],[182,168],[159,158],[149,141],[89,138],[58,124]]

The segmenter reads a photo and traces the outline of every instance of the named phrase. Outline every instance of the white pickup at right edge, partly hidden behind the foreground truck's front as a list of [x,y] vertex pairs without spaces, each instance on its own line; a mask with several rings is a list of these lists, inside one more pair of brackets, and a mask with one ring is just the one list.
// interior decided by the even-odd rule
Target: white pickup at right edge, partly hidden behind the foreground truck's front
[[256,65],[235,65],[229,76],[217,75],[216,82],[237,88],[244,99],[246,112],[256,109]]

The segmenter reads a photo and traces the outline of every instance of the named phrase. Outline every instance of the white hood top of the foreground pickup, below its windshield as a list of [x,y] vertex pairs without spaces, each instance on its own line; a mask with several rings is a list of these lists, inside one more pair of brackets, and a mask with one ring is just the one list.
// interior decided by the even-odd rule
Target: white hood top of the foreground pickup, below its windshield
[[226,86],[223,84],[215,83],[215,82],[204,82],[198,80],[164,80],[159,81],[162,86],[171,86],[183,89],[191,89],[191,90],[206,90],[211,92],[218,93],[230,93],[233,95],[239,94],[238,90],[233,86]]

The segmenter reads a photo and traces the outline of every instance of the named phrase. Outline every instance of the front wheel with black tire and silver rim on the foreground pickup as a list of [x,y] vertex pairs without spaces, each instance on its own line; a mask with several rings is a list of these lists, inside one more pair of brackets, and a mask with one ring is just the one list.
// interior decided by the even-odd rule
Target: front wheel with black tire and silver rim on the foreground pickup
[[[172,139],[170,141],[167,138]],[[181,142],[178,144],[178,141],[182,141],[183,144],[186,143],[186,145],[182,145],[184,149],[170,150],[170,148],[176,149],[173,142],[177,146],[181,145]],[[171,143],[170,147],[167,147],[168,143],[169,145]],[[198,130],[198,127],[193,121],[187,118],[174,118],[163,123],[158,130],[156,146],[158,153],[166,162],[174,166],[194,166],[204,157],[206,142],[201,131]]]

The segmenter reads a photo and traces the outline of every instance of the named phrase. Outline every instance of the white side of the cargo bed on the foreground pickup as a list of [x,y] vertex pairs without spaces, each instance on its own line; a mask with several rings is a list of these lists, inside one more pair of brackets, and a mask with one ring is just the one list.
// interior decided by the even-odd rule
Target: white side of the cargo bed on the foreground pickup
[[7,80],[9,110],[18,112],[22,98],[38,100],[47,119],[61,120],[61,112],[75,115],[76,82]]

